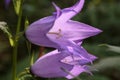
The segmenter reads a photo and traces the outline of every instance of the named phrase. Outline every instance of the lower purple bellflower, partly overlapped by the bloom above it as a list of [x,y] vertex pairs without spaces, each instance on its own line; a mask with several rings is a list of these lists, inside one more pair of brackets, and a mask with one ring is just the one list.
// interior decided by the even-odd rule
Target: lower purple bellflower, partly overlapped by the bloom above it
[[[89,54],[89,57],[92,61],[96,59],[96,57],[91,54]],[[72,79],[82,72],[90,73],[86,65],[89,62],[90,61],[83,57],[71,57],[69,54],[54,50],[40,57],[31,66],[31,73],[43,78],[65,77]]]

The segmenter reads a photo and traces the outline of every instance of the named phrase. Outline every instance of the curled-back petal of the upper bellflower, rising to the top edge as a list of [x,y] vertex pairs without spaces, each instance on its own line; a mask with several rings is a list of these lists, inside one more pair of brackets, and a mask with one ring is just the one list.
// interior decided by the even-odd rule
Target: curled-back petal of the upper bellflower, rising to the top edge
[[64,23],[75,16],[82,10],[84,0],[79,0],[75,5],[61,10],[61,15],[57,18],[56,23]]

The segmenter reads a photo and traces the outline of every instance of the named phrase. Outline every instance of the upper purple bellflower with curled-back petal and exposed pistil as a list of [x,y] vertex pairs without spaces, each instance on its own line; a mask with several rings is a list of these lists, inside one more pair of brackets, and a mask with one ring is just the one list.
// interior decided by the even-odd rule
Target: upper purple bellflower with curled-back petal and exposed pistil
[[56,12],[52,16],[42,18],[28,27],[26,36],[33,44],[61,48],[68,46],[64,44],[69,41],[78,44],[83,39],[101,32],[87,24],[70,20],[81,11],[84,0],[78,0],[75,5],[65,9],[60,9],[55,3],[53,5]]

